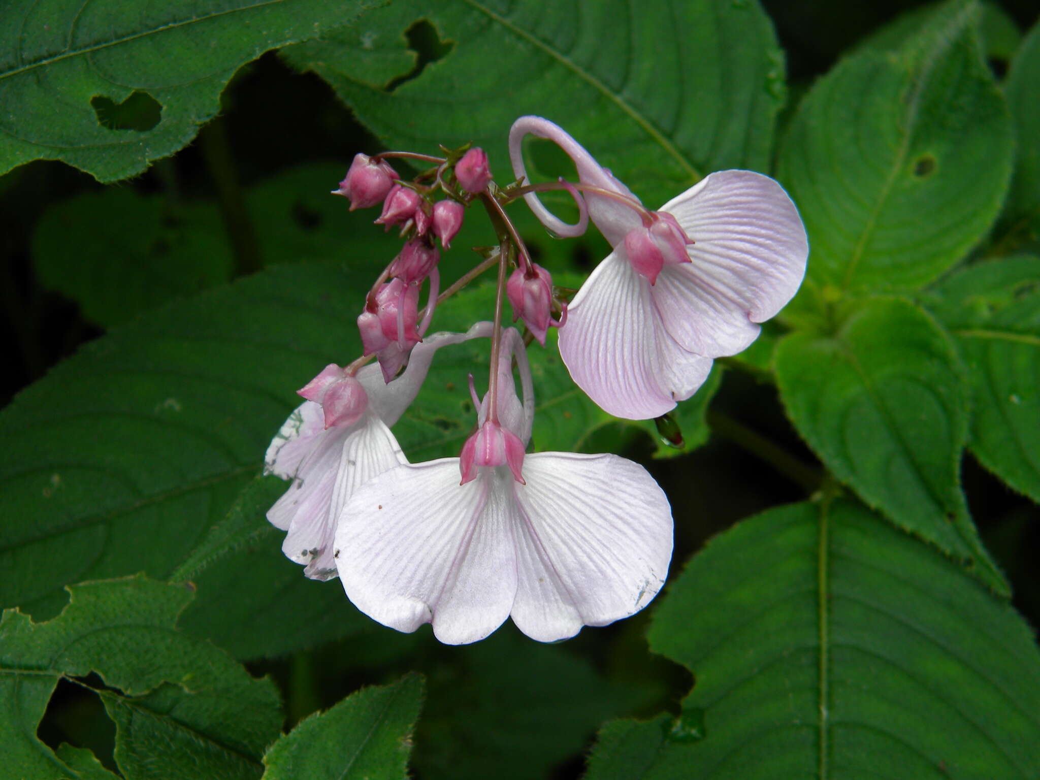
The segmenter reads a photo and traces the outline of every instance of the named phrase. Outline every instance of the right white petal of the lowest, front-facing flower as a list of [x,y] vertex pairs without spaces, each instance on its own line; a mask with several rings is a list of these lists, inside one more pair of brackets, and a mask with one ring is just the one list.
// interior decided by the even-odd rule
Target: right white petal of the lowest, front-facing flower
[[672,511],[646,469],[613,454],[536,452],[524,478],[514,487],[520,630],[552,642],[646,606],[672,557]]

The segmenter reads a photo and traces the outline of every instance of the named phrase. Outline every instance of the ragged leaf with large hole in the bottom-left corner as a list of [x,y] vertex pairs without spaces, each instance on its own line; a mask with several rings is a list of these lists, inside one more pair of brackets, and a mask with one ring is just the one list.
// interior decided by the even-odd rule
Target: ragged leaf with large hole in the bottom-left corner
[[[282,721],[278,692],[176,629],[189,589],[137,576],[69,593],[69,605],[47,623],[16,609],[0,620],[0,751],[8,771],[33,779],[111,777],[88,751],[63,746],[54,754],[35,737],[66,678],[101,697],[128,779],[259,777]],[[104,687],[81,680],[92,673]]]

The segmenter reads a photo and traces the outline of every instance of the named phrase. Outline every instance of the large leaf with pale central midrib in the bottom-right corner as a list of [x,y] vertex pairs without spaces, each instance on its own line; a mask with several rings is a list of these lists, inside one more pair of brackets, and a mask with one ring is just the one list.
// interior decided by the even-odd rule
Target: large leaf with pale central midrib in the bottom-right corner
[[589,780],[1040,772],[1029,626],[858,504],[771,510],[713,540],[649,638],[696,685],[678,719],[608,725]]

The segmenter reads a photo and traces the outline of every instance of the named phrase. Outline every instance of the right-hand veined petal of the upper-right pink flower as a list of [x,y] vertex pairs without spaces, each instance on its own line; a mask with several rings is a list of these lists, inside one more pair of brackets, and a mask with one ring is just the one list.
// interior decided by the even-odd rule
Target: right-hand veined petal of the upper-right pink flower
[[777,182],[752,171],[705,177],[661,211],[696,241],[692,263],[668,266],[653,296],[686,349],[734,355],[798,291],[809,252],[798,209]]

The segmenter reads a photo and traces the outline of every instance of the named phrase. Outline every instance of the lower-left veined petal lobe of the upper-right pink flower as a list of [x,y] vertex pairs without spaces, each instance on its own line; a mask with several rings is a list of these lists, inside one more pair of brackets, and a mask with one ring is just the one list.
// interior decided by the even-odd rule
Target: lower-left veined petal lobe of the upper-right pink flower
[[609,414],[649,419],[675,406],[658,380],[657,317],[649,284],[618,251],[568,307],[560,355],[578,387]]

